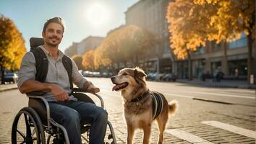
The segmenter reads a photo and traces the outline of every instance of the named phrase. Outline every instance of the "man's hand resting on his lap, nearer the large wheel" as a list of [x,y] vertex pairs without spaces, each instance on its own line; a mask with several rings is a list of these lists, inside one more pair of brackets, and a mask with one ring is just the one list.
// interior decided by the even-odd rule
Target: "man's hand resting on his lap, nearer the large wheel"
[[51,84],[51,93],[57,101],[69,101],[69,94],[57,84]]

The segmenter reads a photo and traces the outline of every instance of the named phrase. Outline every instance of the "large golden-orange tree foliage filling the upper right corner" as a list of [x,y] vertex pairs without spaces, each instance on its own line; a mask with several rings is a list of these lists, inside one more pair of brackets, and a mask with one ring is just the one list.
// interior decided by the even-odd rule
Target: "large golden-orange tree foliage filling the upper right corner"
[[[187,58],[206,40],[236,40],[242,32],[255,35],[255,1],[176,0],[167,10],[170,47],[177,58]],[[255,37],[252,37],[255,38]]]

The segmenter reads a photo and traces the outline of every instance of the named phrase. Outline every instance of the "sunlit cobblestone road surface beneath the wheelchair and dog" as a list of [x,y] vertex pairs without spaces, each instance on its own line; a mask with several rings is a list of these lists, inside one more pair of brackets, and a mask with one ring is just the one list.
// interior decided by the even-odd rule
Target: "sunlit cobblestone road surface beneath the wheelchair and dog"
[[[126,143],[127,126],[123,116],[122,99],[119,92],[111,91],[112,85],[104,78],[93,78],[91,81],[101,88],[100,95],[103,96],[105,107],[108,111],[108,119],[114,127],[117,143]],[[156,85],[152,83],[152,86],[155,86],[155,88],[158,87]],[[150,85],[150,87],[152,86]],[[171,86],[173,86],[173,89],[179,90],[179,86]],[[195,89],[197,88],[195,87]],[[207,88],[205,89],[207,90]],[[161,91],[161,89],[156,90]],[[162,90],[166,91],[166,88]],[[233,89],[226,90],[227,93],[229,91],[233,91]],[[168,93],[168,91],[165,93]],[[246,91],[244,94],[247,94]],[[210,143],[255,143],[255,138],[249,138],[235,132],[202,123],[203,121],[214,120],[255,131],[255,107],[244,106],[242,104],[202,102],[186,97],[172,96],[171,93],[166,94],[166,99],[168,101],[171,101],[171,99],[179,101],[179,110],[175,116],[170,118],[166,127],[167,130],[189,132],[189,134],[196,135]],[[255,99],[253,100],[255,101]],[[95,99],[95,102],[99,104],[98,99]],[[0,93],[0,143],[10,143],[14,116],[25,106],[27,106],[27,98],[25,95],[20,94],[19,91],[11,90]],[[134,143],[142,143],[142,135],[142,130],[137,130]],[[158,128],[157,125],[153,124],[151,143],[157,143],[157,140]],[[191,142],[165,132],[164,143],[186,144]]]

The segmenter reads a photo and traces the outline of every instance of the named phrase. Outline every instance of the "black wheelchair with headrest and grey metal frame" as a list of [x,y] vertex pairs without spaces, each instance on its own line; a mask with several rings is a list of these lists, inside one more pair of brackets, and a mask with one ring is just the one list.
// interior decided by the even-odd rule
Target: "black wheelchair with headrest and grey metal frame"
[[[32,39],[32,42],[31,42]],[[30,46],[42,45],[42,39],[31,38]],[[31,46],[32,47],[32,46]],[[47,100],[43,97],[43,92],[30,92],[27,95],[29,98],[28,107],[20,109],[20,112],[14,117],[12,124],[12,144],[16,143],[42,143],[42,144],[69,144],[69,138],[65,128],[55,122],[50,115],[50,108]],[[90,102],[95,104],[93,99],[88,95],[96,96],[101,107],[104,108],[104,102],[100,95],[89,93],[84,89],[73,88],[72,95],[77,100],[82,102]],[[23,117],[23,118],[22,118]],[[24,125],[25,123],[25,125]],[[111,122],[108,121],[107,138],[105,144],[116,144],[114,129]],[[89,143],[90,125],[81,125],[82,141]],[[47,140],[46,140],[47,137]]]

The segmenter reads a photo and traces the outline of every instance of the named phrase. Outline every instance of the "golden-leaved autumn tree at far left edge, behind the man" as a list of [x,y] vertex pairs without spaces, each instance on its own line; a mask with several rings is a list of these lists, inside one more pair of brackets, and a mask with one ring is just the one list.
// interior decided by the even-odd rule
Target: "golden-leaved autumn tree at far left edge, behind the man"
[[11,19],[0,15],[0,66],[12,71],[20,68],[23,55],[26,53],[25,40]]

